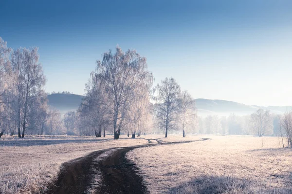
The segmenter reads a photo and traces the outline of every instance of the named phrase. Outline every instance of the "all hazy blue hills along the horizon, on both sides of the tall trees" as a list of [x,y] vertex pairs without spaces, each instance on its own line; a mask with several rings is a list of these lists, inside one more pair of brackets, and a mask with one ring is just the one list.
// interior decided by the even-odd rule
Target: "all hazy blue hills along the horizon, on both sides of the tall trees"
[[[49,105],[55,107],[62,113],[68,111],[76,111],[84,96],[75,94],[51,94],[48,95]],[[286,111],[291,111],[292,106],[249,106],[238,102],[227,100],[212,100],[197,98],[195,99],[197,113],[200,116],[207,116],[210,114],[218,114],[219,116],[228,116],[230,113],[237,115],[247,115],[254,113],[259,108],[269,109],[271,113],[282,114]]]

